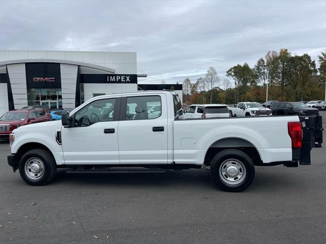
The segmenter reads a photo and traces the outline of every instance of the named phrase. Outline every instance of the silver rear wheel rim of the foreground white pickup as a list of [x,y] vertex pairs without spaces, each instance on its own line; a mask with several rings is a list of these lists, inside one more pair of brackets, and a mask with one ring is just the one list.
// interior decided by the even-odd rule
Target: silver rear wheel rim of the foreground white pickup
[[235,185],[246,177],[246,168],[237,159],[227,159],[220,166],[220,177],[228,184]]

